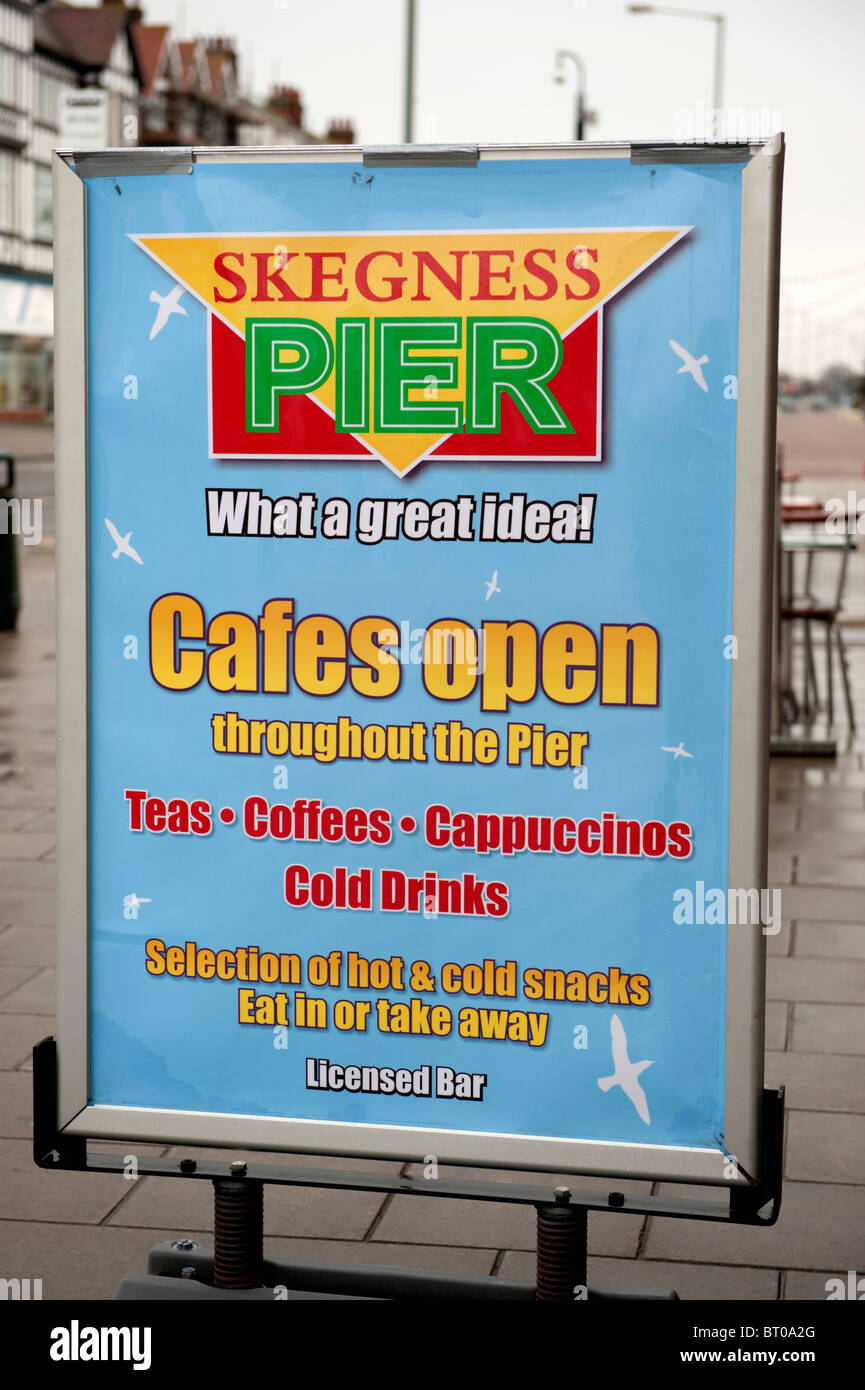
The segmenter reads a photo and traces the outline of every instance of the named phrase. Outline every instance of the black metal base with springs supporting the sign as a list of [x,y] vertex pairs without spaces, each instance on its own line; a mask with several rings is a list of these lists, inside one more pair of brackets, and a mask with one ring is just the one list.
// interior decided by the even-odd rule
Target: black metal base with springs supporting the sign
[[[772,1226],[782,1200],[784,1093],[763,1091],[763,1176],[748,1186],[719,1188],[719,1201],[637,1193],[598,1193],[565,1186],[551,1175],[548,1186],[464,1182],[441,1177],[426,1182],[402,1173],[337,1173],[331,1169],[249,1163],[243,1159],[152,1158],[140,1155],[140,1177],[210,1180],[214,1187],[214,1250],[178,1240],[157,1245],[147,1275],[127,1276],[120,1300],[242,1298],[474,1298],[581,1300],[661,1298],[674,1293],[616,1290],[588,1286],[587,1222],[590,1211],[617,1211],[647,1216],[679,1216],[729,1225]],[[88,1141],[57,1129],[57,1044],[43,1038],[33,1048],[33,1159],[39,1168],[75,1172],[125,1172],[122,1154],[88,1152]],[[579,1177],[579,1175],[574,1175]],[[567,1183],[570,1183],[567,1176]],[[263,1255],[264,1184],[332,1187],[417,1197],[459,1197],[474,1201],[520,1202],[538,1213],[537,1282],[483,1275],[444,1275],[420,1269],[380,1269],[303,1261],[268,1261]],[[553,1186],[555,1184],[555,1186]],[[680,1184],[687,1194],[687,1184]]]

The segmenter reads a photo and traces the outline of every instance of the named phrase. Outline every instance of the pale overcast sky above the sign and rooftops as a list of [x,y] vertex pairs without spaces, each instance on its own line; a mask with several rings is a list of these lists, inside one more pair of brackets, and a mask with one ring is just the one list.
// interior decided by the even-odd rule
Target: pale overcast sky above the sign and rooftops
[[[405,0],[140,0],[181,38],[236,39],[242,85],[298,86],[306,124],[402,139]],[[694,8],[701,8],[694,4]],[[722,0],[723,107],[787,138],[782,366],[865,363],[865,0]],[[709,13],[709,7],[706,7]],[[417,0],[414,139],[567,140],[585,63],[592,139],[673,139],[712,104],[716,26],[620,0]],[[765,128],[768,125],[768,129]]]

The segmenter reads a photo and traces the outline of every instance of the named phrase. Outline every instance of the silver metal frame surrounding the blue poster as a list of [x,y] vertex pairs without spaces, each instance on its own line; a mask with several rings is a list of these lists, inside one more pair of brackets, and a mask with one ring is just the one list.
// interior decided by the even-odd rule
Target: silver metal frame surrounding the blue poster
[[[768,733],[775,468],[777,277],[783,138],[747,146],[483,146],[477,161],[737,161],[741,174],[738,406],[731,671],[729,884],[766,883]],[[88,222],[83,177],[191,170],[193,164],[345,161],[441,164],[446,150],[61,152],[54,160],[57,303],[58,656],[58,1113],[63,1136],[345,1154],[549,1172],[604,1173],[726,1187],[761,1175],[765,938],[727,926],[726,1133],[723,1147],[601,1143],[416,1126],[227,1115],[89,1097],[89,555]],[[459,163],[467,160],[464,150]],[[736,1162],[730,1165],[730,1155]]]

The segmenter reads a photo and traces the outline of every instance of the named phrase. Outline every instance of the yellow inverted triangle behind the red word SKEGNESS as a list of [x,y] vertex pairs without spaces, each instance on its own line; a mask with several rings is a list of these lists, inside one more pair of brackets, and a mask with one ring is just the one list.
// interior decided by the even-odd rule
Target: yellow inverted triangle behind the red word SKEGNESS
[[[325,235],[139,235],[132,239],[241,338],[248,320],[303,318],[331,342],[338,320],[534,318],[565,338],[599,304],[668,252],[687,227],[520,232],[332,232]],[[375,374],[375,335],[370,373]],[[467,335],[449,349],[464,391]],[[434,350],[434,349],[432,349]],[[430,349],[424,349],[427,356]],[[309,395],[337,416],[337,374]],[[419,388],[407,404],[420,402]],[[448,434],[352,431],[402,474]]]

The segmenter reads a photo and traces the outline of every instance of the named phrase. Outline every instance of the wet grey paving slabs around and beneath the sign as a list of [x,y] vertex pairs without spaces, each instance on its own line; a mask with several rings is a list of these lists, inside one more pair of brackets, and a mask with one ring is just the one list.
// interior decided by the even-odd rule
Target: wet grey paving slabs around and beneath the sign
[[[797,471],[819,491],[855,488],[865,425],[822,414],[784,418]],[[820,453],[820,421],[832,439]],[[13,445],[13,438],[15,443]],[[793,443],[790,442],[793,439]],[[839,443],[841,441],[841,443]],[[21,495],[50,498],[50,431],[8,427]],[[812,467],[809,464],[812,461]],[[36,493],[36,486],[43,486]],[[26,489],[32,488],[31,492]],[[837,495],[844,495],[839,491]],[[49,507],[46,506],[46,516]],[[31,1048],[54,1009],[54,549],[19,550],[24,609],[0,634],[0,1277],[42,1279],[47,1300],[108,1300],[143,1272],[161,1240],[211,1244],[209,1183],[43,1172],[31,1150]],[[865,545],[852,557],[865,594]],[[787,1087],[782,1215],[770,1229],[615,1212],[590,1218],[590,1283],[676,1289],[681,1298],[825,1300],[826,1282],[865,1273],[865,632],[850,630],[861,731],[839,730],[832,760],[773,759],[770,885],[783,930],[768,937],[766,1072]],[[822,671],[820,671],[822,674]],[[122,1145],[99,1145],[118,1151]],[[136,1145],[142,1152],[142,1145]],[[192,1148],[156,1148],[195,1156]],[[225,1151],[209,1151],[225,1158]],[[267,1155],[229,1155],[267,1159]],[[285,1162],[285,1155],[274,1155]],[[293,1163],[398,1172],[399,1163],[291,1158]],[[403,1172],[412,1172],[405,1165]],[[490,1177],[485,1170],[439,1169]],[[540,1175],[502,1173],[502,1182]],[[547,1182],[548,1175],[547,1175]],[[560,1180],[560,1179],[559,1179]],[[599,1190],[609,1180],[579,1180]],[[627,1184],[616,1182],[617,1188]],[[649,1184],[630,1184],[648,1190]],[[655,1190],[666,1191],[666,1187]],[[708,1188],[694,1195],[716,1197]],[[267,1188],[266,1252],[534,1277],[531,1208],[419,1201],[314,1188]]]

